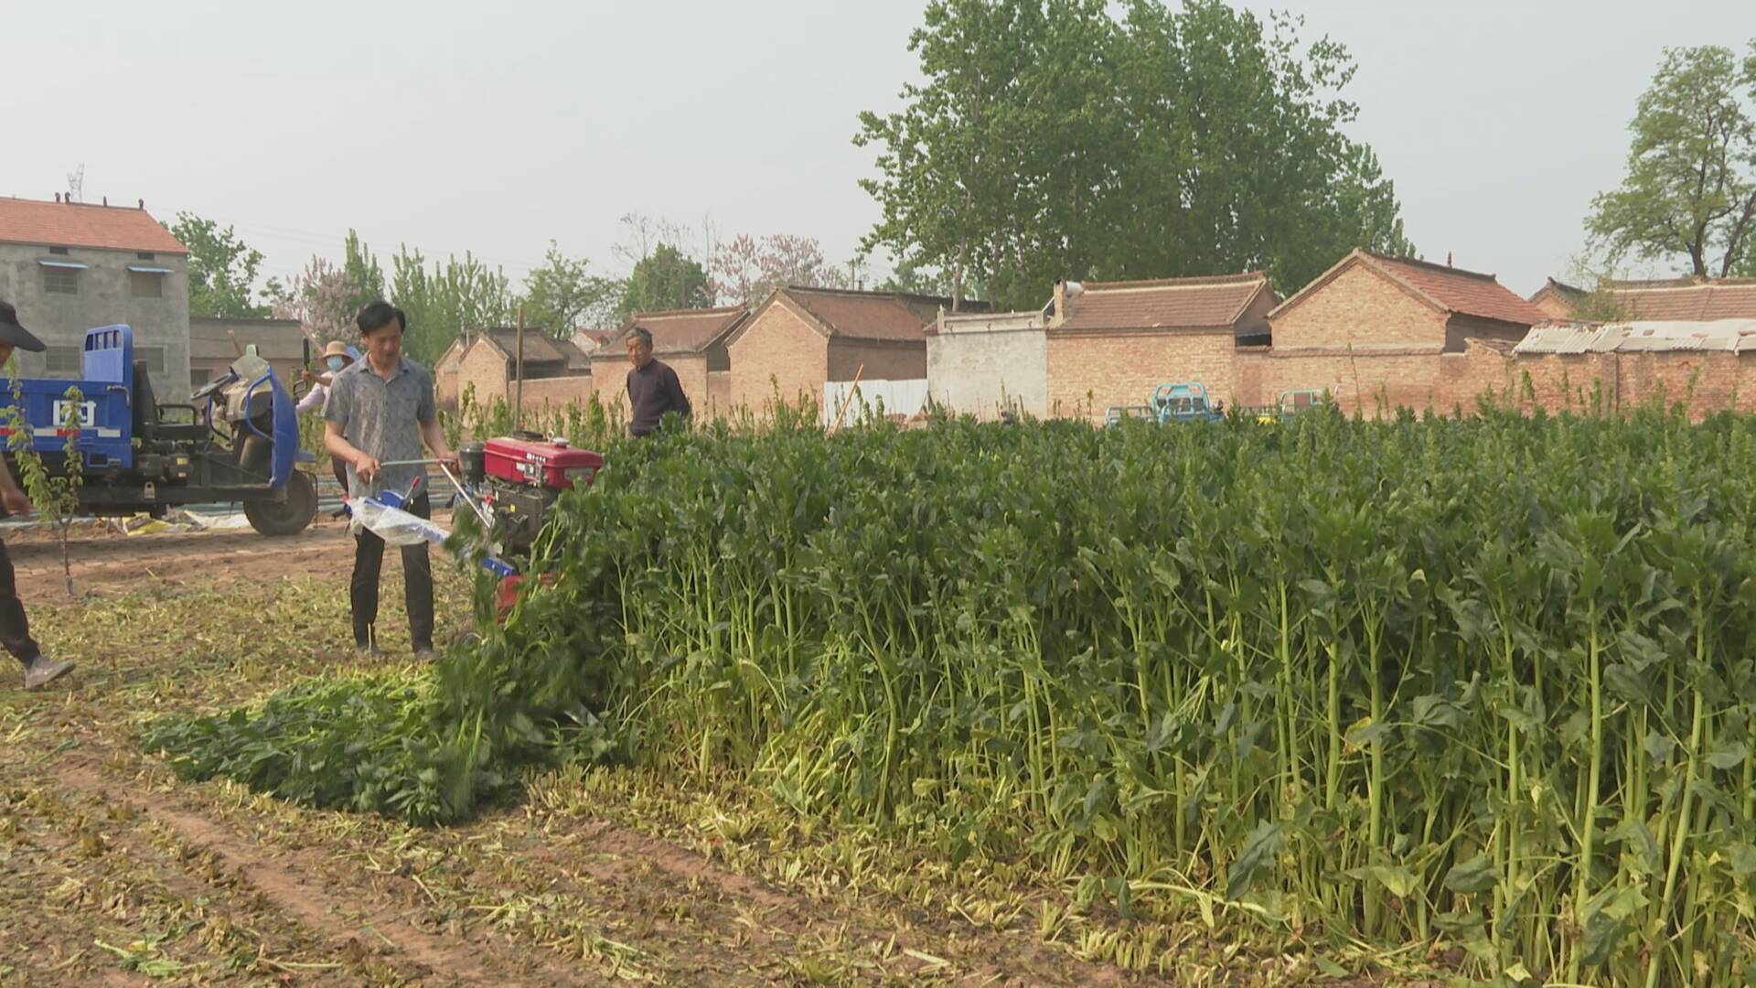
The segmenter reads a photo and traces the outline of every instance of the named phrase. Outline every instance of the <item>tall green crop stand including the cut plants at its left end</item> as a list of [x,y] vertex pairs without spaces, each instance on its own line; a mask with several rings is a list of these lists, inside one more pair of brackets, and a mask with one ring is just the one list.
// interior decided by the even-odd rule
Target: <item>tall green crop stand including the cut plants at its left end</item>
[[1752,462],[1756,422],[1659,413],[671,436],[564,501],[557,587],[434,682],[151,744],[453,819],[581,751],[583,705],[590,756],[1124,907],[1744,977]]

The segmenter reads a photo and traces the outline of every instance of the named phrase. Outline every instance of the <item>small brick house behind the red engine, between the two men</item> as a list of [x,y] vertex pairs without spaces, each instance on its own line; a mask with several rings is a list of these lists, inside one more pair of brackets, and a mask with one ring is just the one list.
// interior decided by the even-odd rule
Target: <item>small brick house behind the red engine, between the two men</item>
[[[434,392],[455,406],[474,387],[478,403],[513,401],[518,383],[518,331],[488,329],[453,339],[434,362]],[[525,331],[525,401],[585,401],[592,396],[592,362],[567,339]]]

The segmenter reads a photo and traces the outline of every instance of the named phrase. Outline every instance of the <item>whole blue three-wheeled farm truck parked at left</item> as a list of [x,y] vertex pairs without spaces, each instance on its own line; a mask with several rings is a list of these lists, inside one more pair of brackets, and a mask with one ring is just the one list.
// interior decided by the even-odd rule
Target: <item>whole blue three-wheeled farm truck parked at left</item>
[[146,360],[133,357],[133,331],[107,325],[86,331],[79,380],[26,378],[18,387],[49,475],[67,473],[67,425],[76,420],[67,392],[79,389],[86,513],[163,517],[184,505],[242,503],[249,526],[270,536],[299,534],[316,515],[316,483],[297,469],[314,457],[299,447],[293,397],[255,353],[188,403],[160,404]]

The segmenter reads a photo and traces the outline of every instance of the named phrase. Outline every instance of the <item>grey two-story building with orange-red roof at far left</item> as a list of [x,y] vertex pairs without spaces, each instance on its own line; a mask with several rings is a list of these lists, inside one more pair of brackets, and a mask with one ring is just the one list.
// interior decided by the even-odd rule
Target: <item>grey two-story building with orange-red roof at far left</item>
[[142,206],[0,199],[0,299],[46,345],[19,373],[77,378],[84,332],[133,327],[160,396],[190,392],[190,251]]

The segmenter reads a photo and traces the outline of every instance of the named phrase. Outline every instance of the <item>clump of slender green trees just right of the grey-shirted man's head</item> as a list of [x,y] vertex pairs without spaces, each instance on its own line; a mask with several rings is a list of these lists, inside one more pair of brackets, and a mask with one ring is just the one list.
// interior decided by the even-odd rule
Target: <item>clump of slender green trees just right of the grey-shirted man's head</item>
[[390,299],[409,316],[404,348],[423,364],[437,360],[464,332],[511,325],[516,306],[499,267],[465,253],[428,269],[421,251],[407,246],[392,257]]

